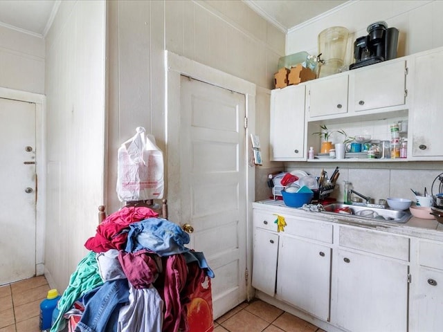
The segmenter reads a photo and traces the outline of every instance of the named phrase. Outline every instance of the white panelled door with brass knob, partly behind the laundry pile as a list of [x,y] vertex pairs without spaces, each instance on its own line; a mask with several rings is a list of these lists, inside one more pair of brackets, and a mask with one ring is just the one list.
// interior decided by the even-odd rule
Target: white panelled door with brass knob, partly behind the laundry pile
[[215,272],[215,318],[246,299],[245,104],[242,94],[181,77],[181,223]]

